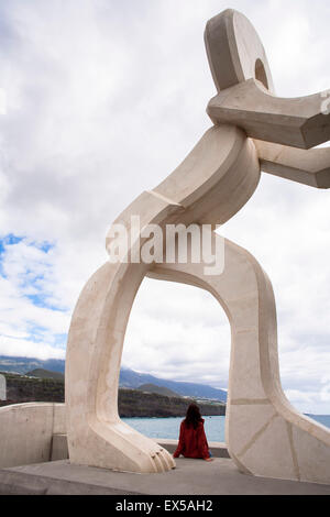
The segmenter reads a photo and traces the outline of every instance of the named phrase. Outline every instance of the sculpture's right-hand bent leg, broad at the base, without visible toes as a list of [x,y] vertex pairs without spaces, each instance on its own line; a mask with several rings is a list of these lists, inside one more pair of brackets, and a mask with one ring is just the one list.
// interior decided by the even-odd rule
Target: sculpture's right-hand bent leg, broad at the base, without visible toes
[[201,287],[228,315],[232,345],[226,441],[238,468],[258,476],[330,483],[329,430],[300,415],[283,393],[274,294],[255,258],[226,241],[220,276],[206,276],[202,264],[162,264],[148,276]]

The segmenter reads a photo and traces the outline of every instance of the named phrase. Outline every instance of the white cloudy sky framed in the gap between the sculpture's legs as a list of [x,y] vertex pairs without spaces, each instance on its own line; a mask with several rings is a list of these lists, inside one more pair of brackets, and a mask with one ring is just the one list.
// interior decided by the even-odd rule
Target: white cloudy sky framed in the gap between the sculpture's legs
[[177,381],[226,387],[230,327],[209,294],[180,284],[143,280],[129,321],[122,362]]

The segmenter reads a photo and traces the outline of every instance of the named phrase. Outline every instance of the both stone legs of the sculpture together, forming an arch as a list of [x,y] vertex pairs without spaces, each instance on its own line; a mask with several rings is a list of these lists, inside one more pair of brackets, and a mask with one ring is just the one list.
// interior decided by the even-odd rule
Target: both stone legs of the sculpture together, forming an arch
[[[135,472],[175,466],[166,451],[121,422],[117,411],[124,332],[147,275],[208,290],[229,317],[226,441],[238,468],[254,475],[329,483],[330,433],[296,411],[280,386],[276,309],[267,275],[240,246],[226,240],[224,250],[226,267],[219,276],[206,276],[202,263],[157,264],[151,270],[134,264],[127,266],[127,273],[134,267],[134,275],[116,278],[113,266],[106,264],[89,280],[73,320],[73,332],[79,328],[79,349],[69,346],[67,358],[70,461]],[[79,384],[87,377],[88,383]]]

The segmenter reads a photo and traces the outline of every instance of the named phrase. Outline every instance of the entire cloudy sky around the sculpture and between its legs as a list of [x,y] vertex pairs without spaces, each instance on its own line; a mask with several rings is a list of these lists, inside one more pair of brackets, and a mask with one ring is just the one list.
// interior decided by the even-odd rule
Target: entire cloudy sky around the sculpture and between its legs
[[[1,0],[0,354],[65,358],[111,222],[211,127],[204,30],[227,8],[256,28],[278,96],[330,88],[326,0]],[[329,196],[263,174],[220,229],[273,283],[286,396],[328,415]],[[143,280],[123,366],[227,388],[229,356],[210,294]]]

